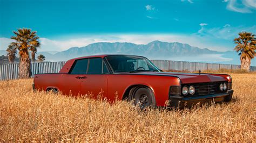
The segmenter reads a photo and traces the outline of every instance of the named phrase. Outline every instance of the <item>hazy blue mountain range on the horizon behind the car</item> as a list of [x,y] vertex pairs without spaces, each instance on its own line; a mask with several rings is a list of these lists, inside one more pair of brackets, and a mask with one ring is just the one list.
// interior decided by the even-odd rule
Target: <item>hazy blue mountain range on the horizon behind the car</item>
[[[0,55],[6,55],[0,51]],[[239,56],[233,51],[218,52],[208,48],[193,47],[179,42],[152,41],[149,44],[130,42],[97,42],[84,47],[72,47],[65,51],[38,52],[47,61],[66,61],[72,58],[95,54],[132,54],[142,55],[149,59],[179,60],[194,62],[213,62],[239,64]]]

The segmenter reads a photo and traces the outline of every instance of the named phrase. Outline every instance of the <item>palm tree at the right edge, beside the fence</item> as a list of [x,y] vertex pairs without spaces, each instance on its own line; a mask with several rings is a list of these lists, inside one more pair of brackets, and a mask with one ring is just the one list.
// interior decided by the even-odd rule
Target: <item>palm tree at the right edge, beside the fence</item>
[[241,69],[250,70],[251,60],[256,56],[256,38],[255,35],[250,32],[240,32],[239,37],[234,39],[234,43],[237,44],[234,50],[240,52]]

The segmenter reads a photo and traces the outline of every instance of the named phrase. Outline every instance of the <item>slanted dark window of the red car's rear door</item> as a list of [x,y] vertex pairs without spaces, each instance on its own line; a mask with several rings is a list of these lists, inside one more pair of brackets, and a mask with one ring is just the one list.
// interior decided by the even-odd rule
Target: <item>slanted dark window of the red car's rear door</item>
[[77,60],[70,74],[86,74],[88,59]]

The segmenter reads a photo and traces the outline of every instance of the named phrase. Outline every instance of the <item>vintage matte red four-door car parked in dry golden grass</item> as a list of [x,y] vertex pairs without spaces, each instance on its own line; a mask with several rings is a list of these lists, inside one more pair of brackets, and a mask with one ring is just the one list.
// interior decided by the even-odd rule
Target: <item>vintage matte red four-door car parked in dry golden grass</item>
[[93,55],[67,61],[55,74],[36,74],[34,90],[65,95],[99,93],[114,101],[128,99],[147,106],[191,106],[198,102],[231,101],[232,79],[226,74],[163,72],[143,56]]

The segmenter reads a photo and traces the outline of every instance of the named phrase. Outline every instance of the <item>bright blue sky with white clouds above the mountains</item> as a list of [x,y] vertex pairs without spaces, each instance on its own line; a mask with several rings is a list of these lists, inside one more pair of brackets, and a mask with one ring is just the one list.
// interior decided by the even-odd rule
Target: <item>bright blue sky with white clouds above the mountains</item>
[[21,27],[38,32],[39,51],[153,40],[232,51],[238,32],[256,34],[256,1],[0,0],[0,49],[6,49],[12,31]]

